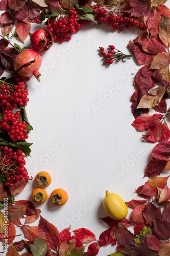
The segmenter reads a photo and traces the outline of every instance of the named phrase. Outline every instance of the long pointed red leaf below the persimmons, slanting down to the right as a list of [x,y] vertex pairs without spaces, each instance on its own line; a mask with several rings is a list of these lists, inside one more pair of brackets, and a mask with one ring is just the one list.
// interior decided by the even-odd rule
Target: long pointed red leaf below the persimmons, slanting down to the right
[[38,226],[44,231],[46,240],[48,241],[48,246],[53,250],[57,251],[58,241],[58,229],[50,222],[40,217]]

